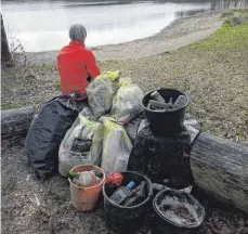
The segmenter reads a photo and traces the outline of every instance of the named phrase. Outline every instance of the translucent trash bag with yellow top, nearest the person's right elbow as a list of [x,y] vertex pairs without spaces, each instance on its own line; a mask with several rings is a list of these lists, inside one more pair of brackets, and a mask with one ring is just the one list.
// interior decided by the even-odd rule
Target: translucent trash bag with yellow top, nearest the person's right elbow
[[119,74],[103,73],[87,87],[89,106],[96,118],[112,108],[113,98],[118,90]]

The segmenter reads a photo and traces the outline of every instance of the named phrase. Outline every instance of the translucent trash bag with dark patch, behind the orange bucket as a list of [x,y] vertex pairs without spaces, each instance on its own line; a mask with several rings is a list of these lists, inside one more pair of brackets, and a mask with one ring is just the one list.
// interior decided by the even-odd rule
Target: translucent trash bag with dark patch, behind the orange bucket
[[100,165],[104,127],[92,117],[89,108],[84,108],[63,139],[58,152],[61,176],[66,177],[79,165]]

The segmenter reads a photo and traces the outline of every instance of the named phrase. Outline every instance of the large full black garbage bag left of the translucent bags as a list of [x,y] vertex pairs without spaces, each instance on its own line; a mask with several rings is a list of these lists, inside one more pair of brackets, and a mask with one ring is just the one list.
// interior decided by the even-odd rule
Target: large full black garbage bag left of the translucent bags
[[47,102],[32,119],[25,151],[38,179],[45,180],[57,170],[61,141],[83,103],[86,101],[75,101],[71,96],[57,96]]

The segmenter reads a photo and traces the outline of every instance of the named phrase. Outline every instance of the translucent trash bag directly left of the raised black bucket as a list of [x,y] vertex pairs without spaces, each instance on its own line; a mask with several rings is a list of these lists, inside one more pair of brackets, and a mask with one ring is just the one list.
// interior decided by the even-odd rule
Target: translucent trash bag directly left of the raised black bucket
[[117,122],[126,123],[136,117],[142,110],[143,92],[139,86],[129,80],[122,81],[113,100],[112,115]]

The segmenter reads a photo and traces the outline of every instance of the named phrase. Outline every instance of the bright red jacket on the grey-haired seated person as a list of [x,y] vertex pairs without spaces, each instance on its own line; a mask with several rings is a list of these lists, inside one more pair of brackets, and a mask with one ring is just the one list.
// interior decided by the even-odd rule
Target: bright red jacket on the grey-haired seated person
[[62,48],[57,56],[57,69],[64,95],[75,92],[84,95],[89,78],[100,75],[93,53],[86,49],[82,41],[70,41],[68,46]]

